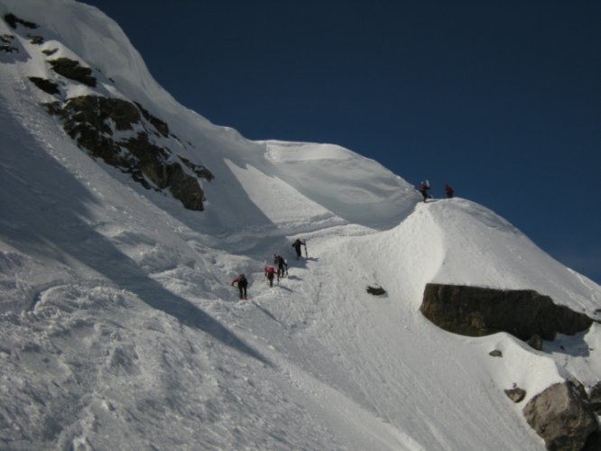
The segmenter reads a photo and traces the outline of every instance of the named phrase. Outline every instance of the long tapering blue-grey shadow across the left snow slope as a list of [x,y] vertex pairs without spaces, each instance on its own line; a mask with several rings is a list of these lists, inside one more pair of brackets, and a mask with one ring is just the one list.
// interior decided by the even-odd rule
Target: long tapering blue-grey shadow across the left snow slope
[[[75,259],[129,290],[147,305],[198,328],[221,343],[264,364],[270,364],[233,332],[188,300],[165,290],[136,263],[121,253],[85,221],[86,204],[94,202],[88,190],[40,144],[0,110],[0,237],[20,252],[42,260]],[[15,139],[18,137],[21,143]],[[57,283],[64,281],[57,281]],[[24,308],[25,306],[23,306]]]

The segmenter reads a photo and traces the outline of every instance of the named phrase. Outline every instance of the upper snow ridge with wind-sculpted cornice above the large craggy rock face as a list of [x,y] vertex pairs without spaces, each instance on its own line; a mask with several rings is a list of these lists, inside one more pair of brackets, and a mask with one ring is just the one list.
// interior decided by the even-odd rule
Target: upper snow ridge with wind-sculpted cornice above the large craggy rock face
[[[0,13],[40,25],[35,33],[44,38],[42,46],[30,42],[32,31],[23,26],[5,28],[5,34],[17,37],[23,55],[13,58],[14,67],[3,68],[9,78],[21,78],[24,84],[31,76],[57,79],[60,95],[34,93],[40,102],[90,94],[118,97],[141,104],[169,125],[171,138],[162,145],[216,175],[202,187],[205,214],[186,219],[208,233],[282,235],[349,222],[385,228],[398,223],[417,200],[411,185],[355,152],[312,143],[251,142],[231,128],[210,124],[156,83],[123,31],[97,8],[71,0],[2,0]],[[50,58],[42,54],[55,49]],[[59,57],[89,66],[98,86],[58,78],[48,60]],[[308,171],[315,176],[305,177]]]

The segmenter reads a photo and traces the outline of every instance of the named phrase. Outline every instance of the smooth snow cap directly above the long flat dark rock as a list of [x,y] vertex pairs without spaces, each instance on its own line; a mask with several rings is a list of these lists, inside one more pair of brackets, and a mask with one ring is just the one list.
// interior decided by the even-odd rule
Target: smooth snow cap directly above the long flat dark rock
[[488,208],[454,199],[434,202],[428,212],[439,225],[445,250],[433,281],[537,290],[559,304],[596,316],[601,304],[598,285],[553,260]]

